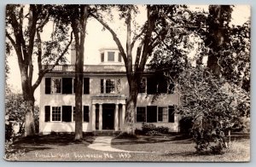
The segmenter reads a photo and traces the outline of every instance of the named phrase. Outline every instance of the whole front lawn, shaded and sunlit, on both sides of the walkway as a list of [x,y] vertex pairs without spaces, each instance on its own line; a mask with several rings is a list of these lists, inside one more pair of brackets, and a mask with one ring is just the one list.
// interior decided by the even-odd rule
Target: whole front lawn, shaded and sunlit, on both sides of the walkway
[[[21,153],[12,158],[17,161],[248,161],[250,141],[240,138],[232,142],[224,155],[195,154],[195,144],[181,135],[138,136],[137,139],[113,139],[112,147],[130,153],[102,152],[88,148],[95,139],[85,135],[83,141],[73,141],[73,135],[38,135],[15,141]],[[145,153],[137,153],[145,152]]]

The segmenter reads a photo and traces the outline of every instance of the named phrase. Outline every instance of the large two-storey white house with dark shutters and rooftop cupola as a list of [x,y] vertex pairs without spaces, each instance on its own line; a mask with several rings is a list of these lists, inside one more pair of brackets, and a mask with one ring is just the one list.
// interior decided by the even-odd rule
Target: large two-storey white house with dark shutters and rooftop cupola
[[[96,65],[84,65],[83,83],[83,131],[122,130],[125,121],[125,102],[129,86],[125,65],[119,50],[100,49]],[[40,86],[39,132],[74,132],[75,87],[74,52],[70,65],[58,65],[45,74]],[[174,86],[155,82],[152,72],[146,70],[137,96],[135,128],[143,123],[169,127],[179,131],[179,118],[174,113],[178,95]],[[172,88],[170,89],[170,86]],[[155,95],[158,98],[154,99]]]

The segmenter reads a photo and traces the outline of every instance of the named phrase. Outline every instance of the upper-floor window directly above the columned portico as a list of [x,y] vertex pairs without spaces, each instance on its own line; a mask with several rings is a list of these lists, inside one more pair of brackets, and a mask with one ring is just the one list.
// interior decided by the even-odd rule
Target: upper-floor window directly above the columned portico
[[120,79],[106,78],[101,79],[101,93],[102,94],[119,94],[120,93]]

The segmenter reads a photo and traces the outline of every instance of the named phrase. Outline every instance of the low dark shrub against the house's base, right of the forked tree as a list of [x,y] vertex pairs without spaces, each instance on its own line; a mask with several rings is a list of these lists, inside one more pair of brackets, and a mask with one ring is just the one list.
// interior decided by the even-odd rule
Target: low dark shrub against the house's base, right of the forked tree
[[167,134],[168,132],[169,132],[169,128],[165,126],[156,126],[155,124],[146,124],[146,123],[143,123],[143,126],[142,126],[143,135],[161,135],[161,134]]

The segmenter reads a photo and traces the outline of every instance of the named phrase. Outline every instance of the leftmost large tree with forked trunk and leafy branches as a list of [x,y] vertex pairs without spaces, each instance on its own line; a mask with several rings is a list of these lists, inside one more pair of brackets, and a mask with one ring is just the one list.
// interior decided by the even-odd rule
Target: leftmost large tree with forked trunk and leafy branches
[[[67,28],[55,25],[49,41],[42,41],[41,34],[44,26],[49,23],[55,14],[52,13],[53,5],[30,4],[15,5],[9,4],[6,7],[6,37],[9,40],[18,58],[21,88],[23,99],[26,102],[27,110],[25,115],[25,135],[34,135],[34,91],[38,88],[46,72],[51,71],[59,62],[64,61],[72,37],[67,43]],[[63,47],[65,46],[65,47]],[[37,58],[38,78],[32,83],[34,66],[33,59]],[[53,66],[43,68],[42,63]]]

